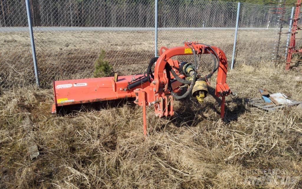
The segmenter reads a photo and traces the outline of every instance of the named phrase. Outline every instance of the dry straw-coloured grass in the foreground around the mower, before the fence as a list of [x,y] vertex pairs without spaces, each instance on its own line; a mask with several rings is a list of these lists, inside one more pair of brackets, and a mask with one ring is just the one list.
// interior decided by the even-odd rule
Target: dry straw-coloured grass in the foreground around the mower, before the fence
[[[258,87],[301,100],[302,83],[296,77],[301,73],[268,65],[237,67],[227,80],[238,96],[227,97],[224,121],[219,119],[219,99],[208,96],[203,105],[185,99],[175,102],[175,116],[168,119],[158,119],[148,109],[147,138],[141,109],[131,102],[51,115],[52,90],[2,91],[0,187],[299,188],[302,110],[265,112],[244,103],[244,98],[259,96]],[[21,126],[25,115],[41,152],[32,161]],[[245,182],[263,176],[263,170],[280,173],[263,185]],[[282,185],[280,174],[297,179]]]

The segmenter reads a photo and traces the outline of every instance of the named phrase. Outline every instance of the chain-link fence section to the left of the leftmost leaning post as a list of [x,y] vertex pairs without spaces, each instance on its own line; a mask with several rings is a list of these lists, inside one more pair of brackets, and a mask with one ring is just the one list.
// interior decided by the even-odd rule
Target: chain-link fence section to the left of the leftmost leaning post
[[25,1],[0,1],[0,94],[35,83]]

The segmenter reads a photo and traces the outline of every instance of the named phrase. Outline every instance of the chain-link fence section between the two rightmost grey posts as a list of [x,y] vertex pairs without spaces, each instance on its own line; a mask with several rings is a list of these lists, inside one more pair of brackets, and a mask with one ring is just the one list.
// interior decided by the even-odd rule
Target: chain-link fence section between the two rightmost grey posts
[[[263,65],[273,61],[276,41],[280,29],[280,14],[275,13],[278,6],[253,5],[240,6],[239,31],[236,48],[236,62],[248,65]],[[250,16],[249,16],[250,15]],[[284,18],[290,18],[291,7],[284,9]],[[283,21],[282,31],[288,31],[289,20]],[[286,43],[287,35],[281,35],[281,43]],[[280,51],[280,55],[285,49]],[[283,54],[284,56],[284,54]]]

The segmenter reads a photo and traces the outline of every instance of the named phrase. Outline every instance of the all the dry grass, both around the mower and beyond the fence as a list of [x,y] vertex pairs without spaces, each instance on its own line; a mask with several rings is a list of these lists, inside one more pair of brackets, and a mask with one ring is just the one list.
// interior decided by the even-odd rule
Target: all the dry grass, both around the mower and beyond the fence
[[[100,49],[107,50],[114,72],[142,72],[153,56],[152,32],[36,35],[43,89],[33,86],[28,34],[0,35],[0,188],[302,187],[302,109],[267,112],[245,103],[259,97],[259,87],[302,100],[302,73],[270,63],[271,43],[259,40],[265,33],[239,32],[236,68],[227,76],[238,95],[226,97],[224,120],[220,99],[213,97],[214,75],[203,104],[175,100],[175,115],[166,119],[148,108],[147,137],[141,108],[127,100],[52,115],[51,81],[92,77]],[[230,60],[233,31],[159,32],[159,46],[184,40],[220,47]],[[23,126],[27,117],[40,151],[33,160]]]

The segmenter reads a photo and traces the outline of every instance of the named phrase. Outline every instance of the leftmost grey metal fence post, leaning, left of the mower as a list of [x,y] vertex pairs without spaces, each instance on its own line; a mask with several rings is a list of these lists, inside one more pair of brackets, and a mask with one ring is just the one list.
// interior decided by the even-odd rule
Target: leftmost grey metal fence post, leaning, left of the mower
[[37,83],[37,86],[39,87],[40,86],[40,81],[39,81],[39,73],[38,73],[38,67],[37,67],[37,57],[36,57],[36,48],[35,48],[35,42],[34,42],[34,33],[33,33],[33,27],[31,25],[31,10],[29,8],[29,0],[25,0],[25,4],[26,4],[29,35],[31,36],[31,52],[32,52],[32,55],[33,55],[33,60],[34,60],[36,83]]

